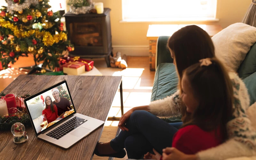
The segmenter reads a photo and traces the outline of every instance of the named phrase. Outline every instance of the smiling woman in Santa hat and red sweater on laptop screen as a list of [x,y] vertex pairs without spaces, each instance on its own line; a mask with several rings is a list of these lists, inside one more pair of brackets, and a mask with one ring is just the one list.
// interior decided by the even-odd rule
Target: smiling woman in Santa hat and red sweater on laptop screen
[[44,98],[45,101],[45,109],[42,114],[46,116],[47,122],[51,123],[56,118],[58,118],[58,110],[55,104],[52,102],[52,98],[50,95],[46,95]]

